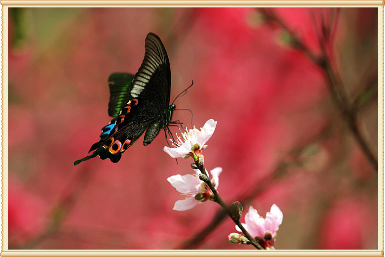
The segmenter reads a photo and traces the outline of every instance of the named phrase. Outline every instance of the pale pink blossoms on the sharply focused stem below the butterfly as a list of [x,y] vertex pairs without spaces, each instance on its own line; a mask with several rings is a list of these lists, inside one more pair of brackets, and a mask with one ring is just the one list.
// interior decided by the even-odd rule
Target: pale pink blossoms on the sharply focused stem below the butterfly
[[[163,150],[173,158],[192,157],[196,162],[203,157],[201,151],[207,147],[205,143],[213,135],[216,125],[217,122],[210,119],[200,130],[195,128],[186,129],[182,133],[182,137],[177,136],[177,141],[173,141],[174,147],[165,146]],[[173,210],[186,211],[207,200],[214,200],[213,192],[209,186],[199,179],[201,171],[198,169],[194,169],[194,171],[194,174],[177,174],[167,178],[167,181],[185,197],[183,200],[176,201]],[[221,172],[221,167],[216,167],[210,171],[212,175],[210,181],[216,190],[219,186],[219,174]],[[207,170],[206,174],[209,174]],[[240,209],[239,217],[241,212]],[[248,213],[245,215],[245,223],[242,223],[242,226],[264,249],[274,249],[276,232],[282,223],[282,219],[283,214],[275,204],[271,206],[270,212],[266,214],[265,218],[261,217],[257,210],[250,206]],[[237,225],[235,229],[241,231]],[[228,238],[233,244],[248,243],[248,239],[238,233],[231,233]]]

